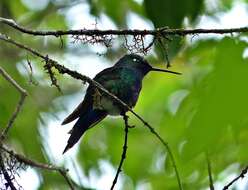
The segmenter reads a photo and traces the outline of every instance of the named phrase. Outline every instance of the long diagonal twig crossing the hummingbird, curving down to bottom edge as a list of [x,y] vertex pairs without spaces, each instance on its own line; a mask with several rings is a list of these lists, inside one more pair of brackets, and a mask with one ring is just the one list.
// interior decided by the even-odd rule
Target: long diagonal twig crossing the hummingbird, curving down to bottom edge
[[93,85],[95,88],[98,88],[100,91],[104,92],[106,95],[108,95],[109,97],[111,97],[113,100],[116,100],[121,106],[123,106],[124,108],[126,108],[128,111],[130,111],[133,115],[135,115],[143,124],[145,127],[150,129],[150,132],[153,133],[158,139],[159,141],[165,146],[165,148],[167,149],[167,152],[169,154],[169,156],[171,157],[172,160],[172,165],[174,167],[175,173],[176,173],[176,178],[177,178],[177,182],[178,182],[178,186],[179,189],[182,190],[182,184],[181,184],[181,180],[180,180],[180,176],[179,176],[179,172],[176,166],[176,161],[174,159],[173,153],[168,145],[167,142],[165,142],[163,140],[163,138],[155,131],[155,129],[149,124],[147,123],[141,116],[139,116],[136,112],[134,112],[125,102],[123,102],[122,100],[120,100],[117,96],[115,96],[114,94],[110,93],[107,89],[105,89],[100,83],[96,82],[95,80],[92,80],[91,78],[82,75],[76,71],[72,71],[66,67],[64,67],[63,65],[58,64],[57,61],[42,55],[41,53],[39,53],[38,51],[31,49],[23,44],[20,44],[12,39],[10,39],[8,36],[4,36],[0,34],[0,40],[3,40],[7,43],[13,44],[21,49],[27,50],[28,52],[32,53],[35,56],[38,56],[40,58],[42,58],[43,60],[47,60],[47,64],[50,64],[51,67],[54,67],[58,70],[59,73],[61,74],[68,74],[70,75],[72,78],[75,79],[80,79],[83,82],[88,82],[89,84]]

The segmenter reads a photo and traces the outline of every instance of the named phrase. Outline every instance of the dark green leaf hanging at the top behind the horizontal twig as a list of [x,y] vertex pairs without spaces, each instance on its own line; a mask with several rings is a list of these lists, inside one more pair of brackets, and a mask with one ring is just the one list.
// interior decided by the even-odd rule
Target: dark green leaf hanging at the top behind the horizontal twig
[[[189,16],[191,21],[197,18],[203,8],[203,0],[145,0],[144,7],[155,28],[181,28],[186,16]],[[166,51],[168,51],[169,59],[172,59],[183,45],[182,39],[175,36],[171,42],[164,39],[162,43],[168,47]],[[161,44],[156,45],[156,50],[160,58],[165,56],[166,52]]]

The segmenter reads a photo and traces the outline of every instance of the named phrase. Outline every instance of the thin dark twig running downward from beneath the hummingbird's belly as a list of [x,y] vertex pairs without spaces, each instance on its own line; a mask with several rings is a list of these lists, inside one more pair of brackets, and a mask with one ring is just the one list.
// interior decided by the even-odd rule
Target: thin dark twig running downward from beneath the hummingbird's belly
[[127,137],[128,137],[128,128],[129,128],[129,125],[128,125],[128,116],[126,114],[123,114],[123,120],[124,120],[124,123],[125,123],[125,137],[124,137],[124,144],[123,144],[123,151],[122,151],[122,155],[121,155],[121,160],[120,160],[120,163],[119,163],[119,166],[118,166],[118,169],[117,169],[117,172],[115,174],[115,178],[113,180],[113,183],[112,183],[112,186],[110,188],[110,190],[113,190],[114,187],[115,187],[115,184],[117,183],[117,180],[118,180],[118,177],[119,177],[119,174],[121,172],[121,167],[122,167],[122,164],[126,158],[126,153],[127,153]]

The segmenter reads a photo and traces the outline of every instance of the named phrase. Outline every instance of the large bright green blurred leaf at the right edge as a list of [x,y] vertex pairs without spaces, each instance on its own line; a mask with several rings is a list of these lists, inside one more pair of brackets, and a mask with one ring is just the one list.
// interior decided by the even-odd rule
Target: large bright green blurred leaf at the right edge
[[[214,60],[209,62],[212,69],[199,78],[181,104],[177,117],[185,114],[181,117],[185,121],[183,157],[186,160],[209,149],[224,156],[221,149],[231,146],[234,140],[228,131],[232,129],[238,138],[245,126],[239,123],[247,123],[248,65],[242,58],[245,47],[245,43],[229,38],[217,43]],[[235,158],[232,155],[224,157],[230,162]]]

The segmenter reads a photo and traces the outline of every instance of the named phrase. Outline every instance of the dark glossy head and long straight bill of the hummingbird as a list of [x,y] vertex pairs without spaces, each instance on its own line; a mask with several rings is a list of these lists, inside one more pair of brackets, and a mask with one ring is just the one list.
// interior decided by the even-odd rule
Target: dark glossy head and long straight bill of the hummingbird
[[144,75],[146,75],[150,71],[157,71],[157,72],[167,72],[172,74],[178,74],[181,73],[169,71],[166,69],[157,69],[152,67],[148,61],[146,61],[143,57],[137,55],[137,54],[127,54],[124,55],[116,64],[115,66],[119,67],[132,67],[137,69],[138,71],[141,71]]

